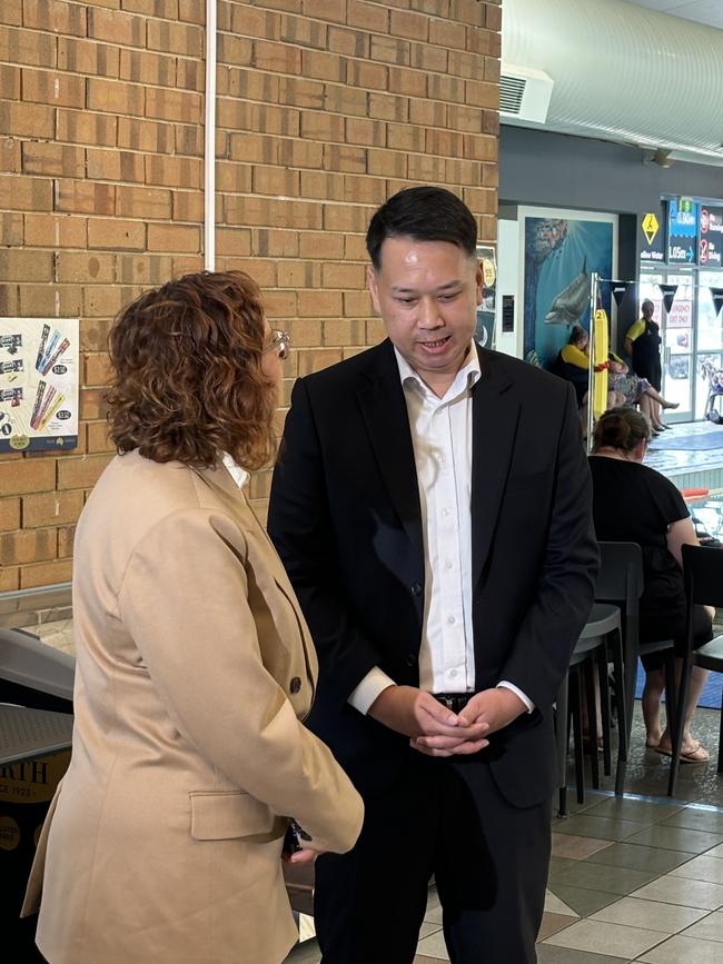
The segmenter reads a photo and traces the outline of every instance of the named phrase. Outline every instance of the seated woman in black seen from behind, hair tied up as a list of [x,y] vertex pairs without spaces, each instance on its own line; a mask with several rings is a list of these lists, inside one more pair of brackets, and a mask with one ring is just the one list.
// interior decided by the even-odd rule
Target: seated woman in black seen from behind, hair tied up
[[[687,506],[673,483],[642,465],[650,439],[650,423],[633,408],[606,411],[595,427],[595,444],[590,458],[593,475],[593,518],[601,541],[638,543],[643,550],[645,587],[640,602],[640,639],[652,643],[675,639],[685,647],[685,588],[681,546],[699,545]],[[715,610],[696,606],[695,644],[712,638]],[[663,657],[643,657],[645,688],[643,718],[646,745],[670,755],[671,735],[661,723],[661,696],[665,688]],[[691,734],[691,722],[707,672],[693,668],[685,707],[681,759],[704,763],[707,752]]]

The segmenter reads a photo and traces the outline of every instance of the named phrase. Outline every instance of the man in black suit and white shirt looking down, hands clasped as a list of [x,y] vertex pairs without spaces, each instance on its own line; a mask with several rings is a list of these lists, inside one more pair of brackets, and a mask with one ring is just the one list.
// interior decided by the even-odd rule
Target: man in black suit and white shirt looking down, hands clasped
[[389,338],[301,378],[269,533],[319,653],[311,728],[365,799],[317,862],[326,964],[408,964],[434,874],[456,964],[527,964],[555,786],[552,705],[593,598],[570,385],[473,340],[476,223],[442,188],[367,232]]

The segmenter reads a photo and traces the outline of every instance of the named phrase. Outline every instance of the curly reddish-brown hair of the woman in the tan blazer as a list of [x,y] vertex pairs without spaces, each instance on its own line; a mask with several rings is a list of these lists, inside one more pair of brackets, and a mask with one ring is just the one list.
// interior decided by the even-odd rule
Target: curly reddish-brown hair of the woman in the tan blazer
[[276,386],[264,375],[260,292],[242,271],[201,271],[146,291],[113,322],[106,392],[119,453],[247,469],[275,448]]

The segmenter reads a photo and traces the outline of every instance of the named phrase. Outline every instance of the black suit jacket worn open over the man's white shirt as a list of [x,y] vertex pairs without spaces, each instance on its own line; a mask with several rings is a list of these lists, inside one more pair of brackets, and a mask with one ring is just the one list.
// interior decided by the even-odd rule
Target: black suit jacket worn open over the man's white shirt
[[[482,752],[518,806],[554,789],[552,704],[593,599],[597,548],[574,392],[478,348],[473,388],[472,566],[476,689],[501,679],[535,710]],[[406,737],[347,697],[373,666],[418,685],[424,546],[407,408],[392,344],[294,388],[269,534],[316,643],[309,725],[356,785],[383,792]]]

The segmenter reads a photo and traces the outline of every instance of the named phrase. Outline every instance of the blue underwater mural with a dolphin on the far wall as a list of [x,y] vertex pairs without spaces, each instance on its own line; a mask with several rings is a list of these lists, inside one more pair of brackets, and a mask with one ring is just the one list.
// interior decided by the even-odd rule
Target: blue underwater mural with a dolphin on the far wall
[[[524,223],[524,358],[547,367],[575,325],[590,330],[591,275],[613,277],[613,225],[526,217]],[[601,286],[610,317],[610,286]]]

